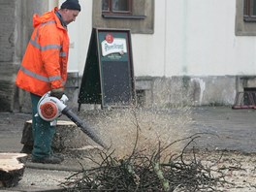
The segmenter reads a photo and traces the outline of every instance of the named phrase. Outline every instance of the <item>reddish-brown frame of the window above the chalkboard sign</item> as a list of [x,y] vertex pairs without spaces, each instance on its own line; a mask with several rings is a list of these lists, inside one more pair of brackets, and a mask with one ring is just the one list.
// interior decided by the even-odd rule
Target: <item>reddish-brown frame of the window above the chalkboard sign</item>
[[109,9],[103,10],[102,9],[102,16],[132,16],[132,5],[133,0],[127,0],[128,1],[128,11],[113,11],[112,10],[112,0],[109,1]]

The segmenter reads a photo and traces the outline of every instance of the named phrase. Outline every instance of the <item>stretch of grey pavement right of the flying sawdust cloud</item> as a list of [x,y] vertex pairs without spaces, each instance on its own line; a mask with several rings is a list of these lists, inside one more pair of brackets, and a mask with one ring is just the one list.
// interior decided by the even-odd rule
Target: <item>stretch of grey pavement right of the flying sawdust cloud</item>
[[[197,108],[191,133],[204,132],[201,147],[256,152],[256,111],[231,108]],[[214,134],[216,136],[214,136]]]

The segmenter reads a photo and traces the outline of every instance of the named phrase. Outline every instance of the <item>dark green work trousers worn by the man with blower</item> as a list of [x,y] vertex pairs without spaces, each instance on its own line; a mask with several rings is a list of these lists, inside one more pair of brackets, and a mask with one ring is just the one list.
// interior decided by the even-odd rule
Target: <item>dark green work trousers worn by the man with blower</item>
[[35,159],[45,158],[51,154],[51,143],[55,134],[55,126],[38,115],[38,102],[40,96],[31,93],[32,102],[32,133],[34,145],[32,157]]

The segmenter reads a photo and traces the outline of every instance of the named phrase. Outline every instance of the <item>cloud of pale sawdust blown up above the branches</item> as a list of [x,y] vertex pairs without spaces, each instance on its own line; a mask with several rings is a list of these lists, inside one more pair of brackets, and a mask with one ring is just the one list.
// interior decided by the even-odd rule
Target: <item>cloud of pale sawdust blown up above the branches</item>
[[[94,115],[94,126],[102,140],[111,145],[116,156],[132,154],[138,138],[137,150],[151,154],[161,146],[171,144],[167,153],[176,153],[184,144],[177,140],[187,137],[191,111],[187,107],[174,110],[115,109]],[[139,134],[137,134],[137,127]]]

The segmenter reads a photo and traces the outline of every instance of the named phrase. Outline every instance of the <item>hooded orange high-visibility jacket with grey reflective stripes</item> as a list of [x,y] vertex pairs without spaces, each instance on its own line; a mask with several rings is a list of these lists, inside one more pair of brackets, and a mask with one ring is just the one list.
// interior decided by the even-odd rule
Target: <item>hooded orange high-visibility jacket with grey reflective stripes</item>
[[34,31],[16,77],[18,87],[40,96],[67,80],[69,36],[56,11],[33,16]]

